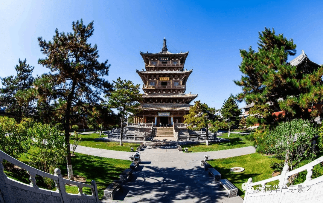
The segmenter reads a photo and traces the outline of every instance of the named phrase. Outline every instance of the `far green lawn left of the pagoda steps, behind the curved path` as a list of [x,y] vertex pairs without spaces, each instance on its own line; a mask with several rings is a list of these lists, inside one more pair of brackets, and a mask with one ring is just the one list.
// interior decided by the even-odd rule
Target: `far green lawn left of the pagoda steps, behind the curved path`
[[[85,147],[130,152],[130,147],[133,147],[136,149],[138,146],[140,146],[140,144],[135,144],[135,143],[123,143],[123,146],[120,146],[120,142],[96,141],[94,139],[99,138],[99,134],[96,134],[96,133],[81,134],[81,135],[82,135],[81,142],[78,145],[85,146]],[[106,135],[102,134],[101,137],[106,137]],[[69,142],[72,144],[73,140],[70,140]]]

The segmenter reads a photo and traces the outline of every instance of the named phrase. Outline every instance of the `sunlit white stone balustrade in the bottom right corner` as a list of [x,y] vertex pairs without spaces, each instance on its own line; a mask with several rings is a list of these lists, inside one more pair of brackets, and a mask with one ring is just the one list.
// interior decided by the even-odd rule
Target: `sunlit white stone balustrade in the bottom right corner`
[[[242,185],[242,189],[246,190],[244,203],[256,203],[256,202],[319,202],[323,198],[323,175],[315,179],[312,179],[313,167],[323,161],[323,156],[318,159],[301,166],[293,171],[289,171],[288,165],[285,165],[280,175],[252,182],[252,178],[249,178],[246,183]],[[307,171],[306,180],[303,183],[297,185],[287,186],[288,178],[299,172]],[[276,188],[266,187],[268,182],[279,180]],[[255,190],[253,186],[259,185],[259,191]],[[271,186],[271,185],[270,185]],[[270,188],[270,189],[269,189]]]

